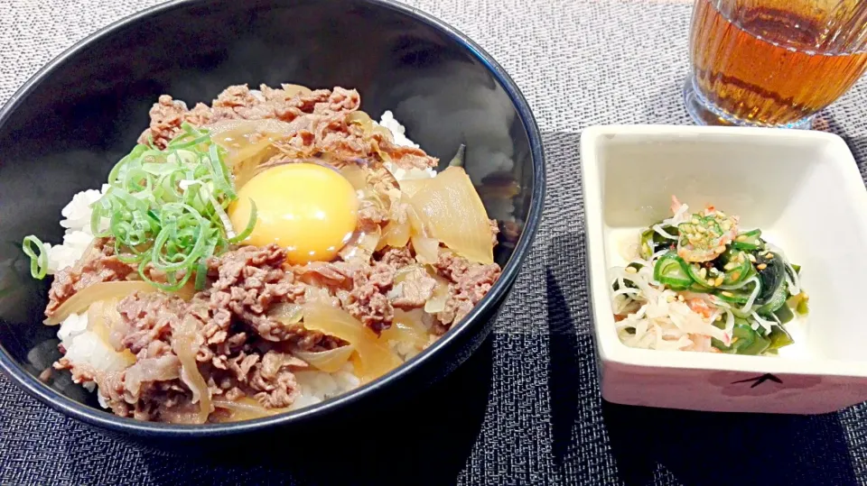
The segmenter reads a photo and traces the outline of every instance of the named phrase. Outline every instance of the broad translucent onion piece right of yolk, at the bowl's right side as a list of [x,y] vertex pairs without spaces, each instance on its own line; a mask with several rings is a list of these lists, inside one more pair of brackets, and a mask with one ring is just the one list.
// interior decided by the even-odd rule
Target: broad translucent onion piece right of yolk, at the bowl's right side
[[410,204],[428,236],[471,261],[493,263],[488,214],[476,188],[460,167],[449,167],[415,188]]

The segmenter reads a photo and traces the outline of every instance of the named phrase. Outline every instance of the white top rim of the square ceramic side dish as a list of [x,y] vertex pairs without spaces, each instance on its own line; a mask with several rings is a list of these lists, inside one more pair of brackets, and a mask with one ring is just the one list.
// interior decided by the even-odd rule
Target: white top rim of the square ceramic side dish
[[[844,175],[841,190],[847,199],[867,207],[865,188],[852,151],[844,140],[834,133],[803,130],[780,130],[764,127],[692,126],[692,125],[597,125],[585,128],[581,135],[582,185],[584,203],[585,243],[588,252],[588,282],[591,294],[591,316],[594,342],[602,362],[639,368],[663,368],[668,370],[744,371],[755,373],[823,375],[841,378],[867,378],[867,362],[829,360],[825,358],[790,358],[778,356],[741,356],[717,353],[677,353],[630,348],[620,342],[614,332],[614,317],[611,314],[608,277],[603,242],[602,179],[600,167],[605,161],[599,155],[599,144],[617,135],[630,138],[630,142],[652,142],[652,147],[670,142],[702,141],[726,138],[731,144],[764,143],[786,144],[797,141],[825,146],[834,155],[826,163],[816,164],[817,170],[834,167]],[[640,163],[637,161],[637,163]],[[760,162],[757,162],[760,163]],[[867,225],[867,217],[862,219]]]

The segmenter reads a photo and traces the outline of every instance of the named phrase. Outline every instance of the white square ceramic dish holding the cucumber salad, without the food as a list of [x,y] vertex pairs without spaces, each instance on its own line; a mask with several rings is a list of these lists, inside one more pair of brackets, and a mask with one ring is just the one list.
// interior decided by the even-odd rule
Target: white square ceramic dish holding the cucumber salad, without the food
[[[602,397],[713,411],[824,413],[867,400],[867,190],[845,142],[765,128],[613,125],[581,140],[584,225]],[[671,196],[741,216],[802,266],[810,313],[779,356],[620,342],[608,271]],[[789,327],[787,326],[787,329]],[[783,353],[786,351],[786,353]]]

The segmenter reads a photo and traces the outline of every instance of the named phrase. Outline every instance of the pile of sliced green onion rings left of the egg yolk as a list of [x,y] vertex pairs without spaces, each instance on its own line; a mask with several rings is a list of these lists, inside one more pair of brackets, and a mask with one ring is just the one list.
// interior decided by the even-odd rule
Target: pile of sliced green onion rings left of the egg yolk
[[[210,131],[187,123],[181,129],[164,150],[149,138],[117,162],[90,221],[95,235],[115,238],[119,260],[137,264],[142,279],[164,290],[180,289],[193,273],[201,288],[207,259],[247,239],[256,225],[253,206],[247,228],[233,234],[225,208],[238,196],[225,151]],[[108,230],[99,232],[104,219]],[[165,281],[151,280],[152,269]]]

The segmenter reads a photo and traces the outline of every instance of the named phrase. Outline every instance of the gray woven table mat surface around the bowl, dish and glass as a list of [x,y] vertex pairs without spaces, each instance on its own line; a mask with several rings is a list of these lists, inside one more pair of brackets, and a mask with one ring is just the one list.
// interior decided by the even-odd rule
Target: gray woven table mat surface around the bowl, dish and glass
[[[5,0],[0,103],[72,43],[158,3]],[[818,417],[767,417],[601,402],[583,284],[579,134],[591,124],[690,123],[680,98],[690,2],[408,3],[488,50],[527,96],[545,138],[545,221],[496,333],[454,377],[409,403],[451,407],[464,417],[388,437],[383,457],[397,464],[392,471],[357,457],[294,461],[294,453],[279,463],[217,463],[95,433],[0,377],[0,483],[867,483],[864,406]],[[865,102],[867,87],[860,83],[817,124],[844,136],[862,174]],[[353,467],[364,473],[338,473]],[[399,475],[424,467],[430,472]]]

